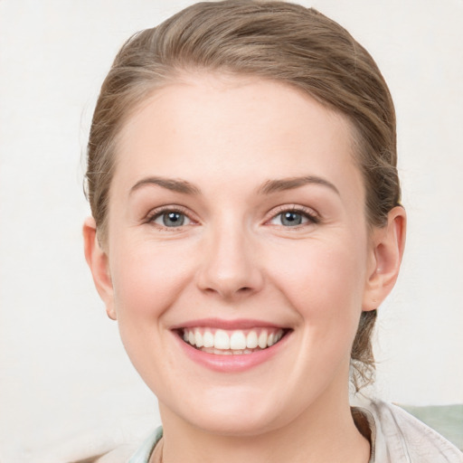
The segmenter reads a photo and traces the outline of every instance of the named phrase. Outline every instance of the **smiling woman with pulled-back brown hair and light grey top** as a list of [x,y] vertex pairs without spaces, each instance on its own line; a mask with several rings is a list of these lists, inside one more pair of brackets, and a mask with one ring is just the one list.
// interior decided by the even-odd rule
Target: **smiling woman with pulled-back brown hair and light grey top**
[[136,34],[87,180],[86,258],[163,421],[130,461],[461,461],[404,412],[349,404],[406,217],[389,90],[342,27],[230,1]]

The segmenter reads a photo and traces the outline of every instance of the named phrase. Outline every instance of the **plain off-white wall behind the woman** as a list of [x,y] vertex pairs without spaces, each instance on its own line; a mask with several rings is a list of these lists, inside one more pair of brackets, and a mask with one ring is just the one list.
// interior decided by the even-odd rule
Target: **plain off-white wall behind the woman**
[[[117,441],[156,424],[84,263],[81,157],[120,44],[189,3],[0,0],[2,463],[62,461],[53,442]],[[376,390],[394,402],[463,402],[463,1],[304,5],[372,52],[398,112],[410,225],[381,309]],[[54,460],[31,456],[47,447]]]

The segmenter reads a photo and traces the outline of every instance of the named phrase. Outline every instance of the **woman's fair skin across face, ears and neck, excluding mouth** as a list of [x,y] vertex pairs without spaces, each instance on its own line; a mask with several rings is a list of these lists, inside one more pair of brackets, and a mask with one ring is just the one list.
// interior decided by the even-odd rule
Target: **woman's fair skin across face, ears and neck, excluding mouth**
[[[188,75],[128,119],[108,236],[100,246],[90,218],[85,251],[156,393],[165,463],[368,461],[350,414],[349,355],[362,310],[397,278],[405,214],[394,208],[371,230],[364,200],[348,121],[286,85]],[[166,227],[160,208],[179,206],[184,225]],[[282,222],[296,210],[300,225]],[[193,362],[173,331],[200,318],[289,334],[262,364],[222,373]]]

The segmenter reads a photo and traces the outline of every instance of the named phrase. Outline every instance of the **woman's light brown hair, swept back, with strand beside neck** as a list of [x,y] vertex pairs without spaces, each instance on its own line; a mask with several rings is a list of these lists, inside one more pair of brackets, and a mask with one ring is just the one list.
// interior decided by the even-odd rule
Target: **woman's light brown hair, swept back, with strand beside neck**
[[[383,226],[400,201],[392,98],[373,58],[343,27],[312,8],[229,0],[185,8],[133,35],[103,82],[88,145],[87,194],[104,240],[120,128],[157,87],[185,71],[220,71],[278,80],[344,114],[364,176],[365,213]],[[363,312],[352,348],[354,385],[373,377],[376,310]]]

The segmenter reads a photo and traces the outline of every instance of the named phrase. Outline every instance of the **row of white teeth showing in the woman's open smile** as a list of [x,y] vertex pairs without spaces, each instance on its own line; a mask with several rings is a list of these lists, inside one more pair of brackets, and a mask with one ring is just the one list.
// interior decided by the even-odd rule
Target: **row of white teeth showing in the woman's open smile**
[[252,354],[279,342],[283,330],[257,328],[250,331],[212,328],[185,328],[184,342],[211,354]]

